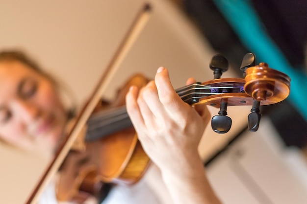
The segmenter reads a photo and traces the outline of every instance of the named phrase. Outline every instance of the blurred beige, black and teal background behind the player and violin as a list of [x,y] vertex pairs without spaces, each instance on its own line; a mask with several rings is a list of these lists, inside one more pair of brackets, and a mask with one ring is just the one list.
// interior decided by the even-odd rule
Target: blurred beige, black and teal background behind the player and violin
[[[211,80],[209,62],[218,53],[230,65],[222,78],[242,78],[241,61],[253,52],[257,64],[290,76],[290,96],[261,107],[256,133],[247,131],[251,107],[229,107],[233,124],[225,135],[209,124],[199,147],[205,171],[225,204],[306,204],[306,1],[0,0],[0,48],[28,52],[82,107],[145,3],[152,6],[150,19],[103,97],[116,99],[129,76],[153,78],[160,66],[170,70],[175,88],[188,77]],[[218,113],[209,108],[212,116]],[[0,160],[0,202],[25,203],[49,160],[3,145]],[[153,188],[167,203],[154,181]]]

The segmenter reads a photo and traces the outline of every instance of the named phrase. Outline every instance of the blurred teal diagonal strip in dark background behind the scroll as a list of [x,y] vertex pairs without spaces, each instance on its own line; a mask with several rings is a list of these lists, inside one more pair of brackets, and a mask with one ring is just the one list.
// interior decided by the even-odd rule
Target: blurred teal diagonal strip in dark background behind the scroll
[[284,72],[291,78],[288,99],[307,121],[307,75],[291,67],[278,46],[266,33],[261,19],[249,0],[214,0],[230,26],[251,52],[256,62],[266,62],[270,68]]

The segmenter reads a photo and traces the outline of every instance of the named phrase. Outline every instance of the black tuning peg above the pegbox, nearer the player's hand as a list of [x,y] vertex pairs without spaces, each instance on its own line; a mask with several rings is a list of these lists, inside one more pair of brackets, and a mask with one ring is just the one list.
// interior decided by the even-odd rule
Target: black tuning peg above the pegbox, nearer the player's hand
[[223,55],[217,54],[211,58],[209,67],[213,70],[214,79],[219,79],[228,70],[228,61]]

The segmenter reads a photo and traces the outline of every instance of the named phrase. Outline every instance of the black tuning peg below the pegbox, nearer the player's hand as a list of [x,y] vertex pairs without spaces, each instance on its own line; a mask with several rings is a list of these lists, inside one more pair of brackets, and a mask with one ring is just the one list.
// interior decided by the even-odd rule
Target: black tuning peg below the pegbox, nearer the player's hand
[[227,102],[222,101],[219,115],[215,115],[211,120],[211,127],[214,132],[219,134],[227,133],[231,128],[231,118],[227,115]]

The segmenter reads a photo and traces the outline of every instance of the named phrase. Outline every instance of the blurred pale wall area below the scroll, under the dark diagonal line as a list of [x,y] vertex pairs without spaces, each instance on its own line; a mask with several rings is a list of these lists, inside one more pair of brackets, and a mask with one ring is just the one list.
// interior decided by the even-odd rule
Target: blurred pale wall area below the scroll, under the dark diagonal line
[[223,204],[306,204],[307,162],[285,148],[270,120],[245,133],[206,169]]

